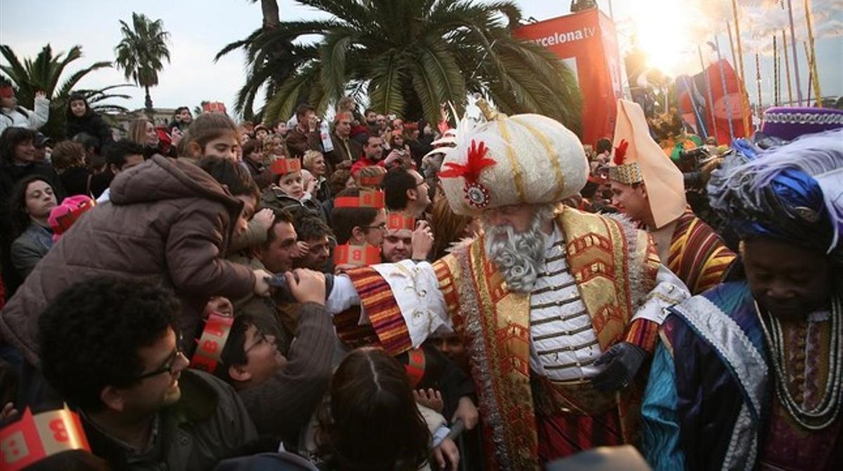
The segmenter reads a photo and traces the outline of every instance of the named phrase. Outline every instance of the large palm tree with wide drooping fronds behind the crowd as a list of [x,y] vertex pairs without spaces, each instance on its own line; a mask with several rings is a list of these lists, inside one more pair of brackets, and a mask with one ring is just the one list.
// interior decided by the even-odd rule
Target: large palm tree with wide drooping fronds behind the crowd
[[[513,36],[521,19],[509,0],[298,0],[331,15],[283,21],[226,45],[244,49],[250,70],[235,106],[253,113],[266,86],[263,120],[302,102],[319,112],[343,94],[368,94],[382,113],[438,121],[451,102],[464,110],[480,92],[505,113],[535,112],[579,131],[582,98],[572,72],[550,51]],[[303,43],[318,35],[315,43]]]

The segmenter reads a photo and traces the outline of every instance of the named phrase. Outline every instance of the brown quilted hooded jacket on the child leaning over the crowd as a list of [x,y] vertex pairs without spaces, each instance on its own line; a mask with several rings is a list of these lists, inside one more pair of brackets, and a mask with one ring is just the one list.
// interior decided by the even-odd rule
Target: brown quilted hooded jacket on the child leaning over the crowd
[[[110,188],[110,202],[62,235],[0,316],[3,338],[36,367],[38,316],[78,281],[121,276],[172,287],[185,339],[198,333],[209,297],[252,292],[252,271],[223,260],[243,203],[202,169],[156,156],[118,174]],[[194,344],[185,340],[188,356]]]

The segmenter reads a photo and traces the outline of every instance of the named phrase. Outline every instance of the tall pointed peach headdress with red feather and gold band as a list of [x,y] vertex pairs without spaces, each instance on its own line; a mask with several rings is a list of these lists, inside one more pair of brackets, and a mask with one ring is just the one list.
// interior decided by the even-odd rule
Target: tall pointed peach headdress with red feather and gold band
[[618,100],[613,146],[615,156],[609,163],[609,179],[624,185],[647,185],[654,228],[663,227],[685,212],[682,172],[650,136],[647,118],[638,104]]

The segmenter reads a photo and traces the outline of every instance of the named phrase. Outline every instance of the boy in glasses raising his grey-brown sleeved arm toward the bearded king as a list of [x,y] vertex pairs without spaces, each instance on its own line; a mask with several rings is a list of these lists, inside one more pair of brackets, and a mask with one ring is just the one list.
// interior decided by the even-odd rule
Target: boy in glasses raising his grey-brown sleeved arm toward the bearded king
[[295,441],[328,388],[336,335],[325,312],[325,276],[287,272],[298,303],[293,340],[271,318],[239,314],[215,374],[237,390],[261,435]]

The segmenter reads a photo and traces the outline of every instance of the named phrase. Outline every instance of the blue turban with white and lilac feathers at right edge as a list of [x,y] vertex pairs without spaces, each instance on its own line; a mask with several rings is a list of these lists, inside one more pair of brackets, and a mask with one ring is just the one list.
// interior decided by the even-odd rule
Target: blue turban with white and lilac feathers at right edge
[[711,207],[741,237],[780,238],[843,261],[843,130],[803,136],[754,158],[746,155],[754,149],[743,147],[711,174]]

